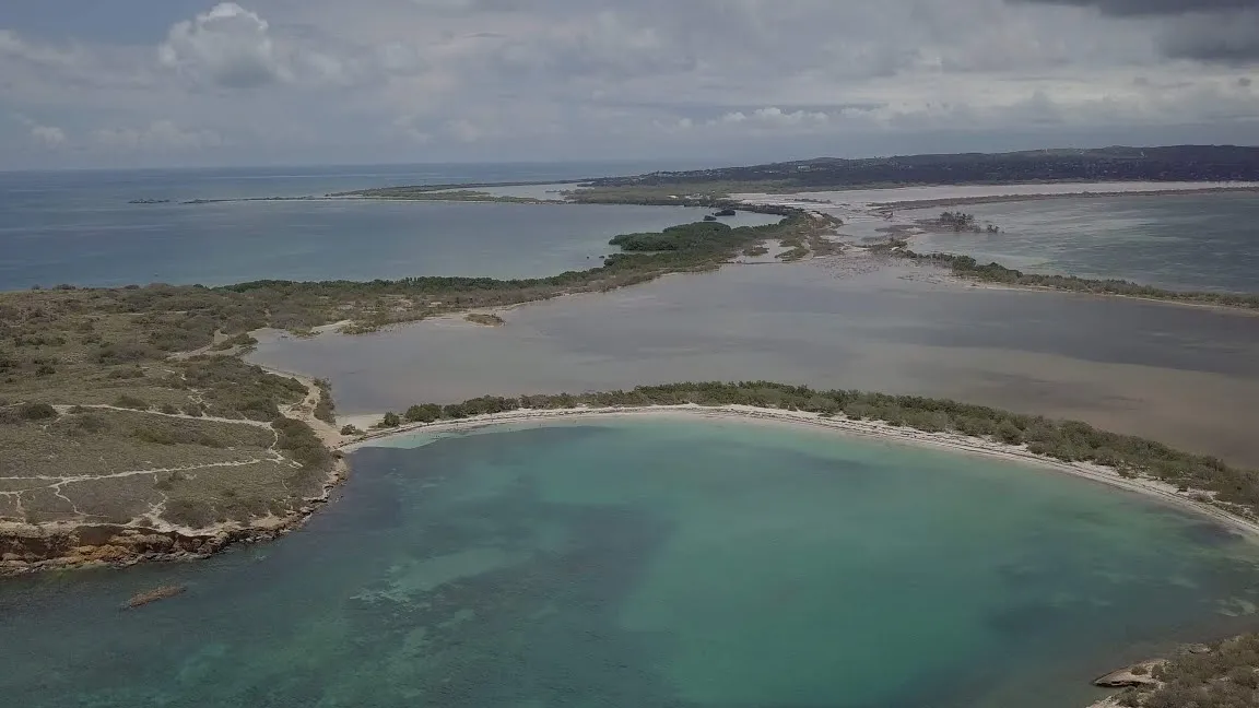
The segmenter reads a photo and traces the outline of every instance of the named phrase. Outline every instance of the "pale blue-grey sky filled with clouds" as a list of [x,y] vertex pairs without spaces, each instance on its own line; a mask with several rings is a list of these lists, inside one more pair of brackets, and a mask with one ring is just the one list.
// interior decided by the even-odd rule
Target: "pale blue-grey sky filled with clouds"
[[1259,0],[0,0],[0,169],[1259,144]]

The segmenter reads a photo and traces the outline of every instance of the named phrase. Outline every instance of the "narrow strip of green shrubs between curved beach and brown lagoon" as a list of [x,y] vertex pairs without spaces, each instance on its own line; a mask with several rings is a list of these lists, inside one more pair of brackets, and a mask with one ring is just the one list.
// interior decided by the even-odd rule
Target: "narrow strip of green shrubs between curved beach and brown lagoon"
[[[628,406],[752,406],[805,411],[851,420],[883,421],[925,432],[956,432],[1007,445],[1022,445],[1036,455],[1066,462],[1097,462],[1124,476],[1148,476],[1200,490],[1204,500],[1244,515],[1259,517],[1259,474],[1240,470],[1216,457],[1172,450],[1151,440],[1099,431],[1079,421],[1011,413],[938,398],[890,396],[860,391],[815,391],[771,382],[679,383],[647,385],[603,393],[562,393],[519,398],[481,397],[438,406],[417,404],[405,413],[409,422],[457,421],[517,409]],[[381,427],[398,427],[390,413]]]

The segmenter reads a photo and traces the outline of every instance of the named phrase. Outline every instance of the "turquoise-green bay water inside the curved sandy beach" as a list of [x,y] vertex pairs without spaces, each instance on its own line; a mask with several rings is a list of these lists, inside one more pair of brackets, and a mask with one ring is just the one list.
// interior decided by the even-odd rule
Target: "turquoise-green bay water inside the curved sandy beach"
[[1254,547],[1064,475],[740,422],[422,442],[278,543],[0,583],[5,704],[1047,708],[1256,624]]

